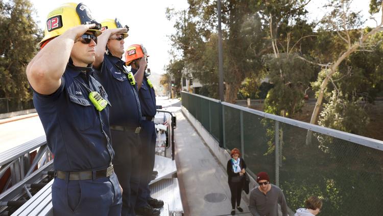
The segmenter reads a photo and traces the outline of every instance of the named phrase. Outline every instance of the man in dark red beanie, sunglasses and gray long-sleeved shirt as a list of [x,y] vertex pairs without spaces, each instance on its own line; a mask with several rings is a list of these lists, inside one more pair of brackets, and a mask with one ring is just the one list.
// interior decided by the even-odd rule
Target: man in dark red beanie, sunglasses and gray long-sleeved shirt
[[286,200],[282,190],[270,184],[267,172],[257,174],[258,187],[250,192],[249,209],[254,216],[278,216],[278,203],[282,209],[282,215],[288,216]]

